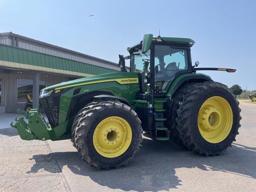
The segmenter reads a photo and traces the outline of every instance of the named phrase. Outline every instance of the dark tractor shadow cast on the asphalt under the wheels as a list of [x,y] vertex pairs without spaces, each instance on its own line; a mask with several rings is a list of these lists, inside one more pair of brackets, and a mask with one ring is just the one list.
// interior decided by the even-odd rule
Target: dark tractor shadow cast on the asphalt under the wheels
[[[88,182],[90,180],[101,186],[124,191],[169,191],[184,185],[179,178],[177,170],[184,168],[199,168],[207,172],[227,172],[239,176],[256,178],[255,162],[256,148],[234,143],[228,152],[220,156],[199,156],[187,149],[180,148],[172,141],[153,140],[148,134],[144,134],[140,151],[131,160],[128,166],[119,169],[96,170],[88,166],[77,152],[54,152],[48,155],[35,155],[36,163],[31,171],[38,172],[39,169],[52,173],[63,172],[64,167],[77,175],[72,180],[78,185],[86,186],[79,180]],[[49,166],[51,165],[51,168]],[[189,170],[185,170],[189,172]],[[67,172],[67,170],[65,170]],[[87,177],[83,177],[87,176]],[[192,178],[191,178],[192,179]]]

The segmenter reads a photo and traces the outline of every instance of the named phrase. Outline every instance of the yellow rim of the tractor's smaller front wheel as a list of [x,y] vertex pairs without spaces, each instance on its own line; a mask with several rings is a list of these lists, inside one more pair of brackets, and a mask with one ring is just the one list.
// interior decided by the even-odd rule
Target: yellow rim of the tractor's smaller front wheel
[[118,116],[108,117],[94,130],[93,145],[104,157],[114,158],[122,155],[132,141],[132,129],[126,120]]

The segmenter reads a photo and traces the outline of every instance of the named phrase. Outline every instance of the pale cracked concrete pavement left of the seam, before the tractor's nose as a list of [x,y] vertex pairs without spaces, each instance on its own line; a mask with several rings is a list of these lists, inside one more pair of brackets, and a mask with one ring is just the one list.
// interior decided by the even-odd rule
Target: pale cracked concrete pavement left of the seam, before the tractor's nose
[[48,141],[21,140],[11,128],[10,123],[22,116],[0,113],[0,192],[70,191]]

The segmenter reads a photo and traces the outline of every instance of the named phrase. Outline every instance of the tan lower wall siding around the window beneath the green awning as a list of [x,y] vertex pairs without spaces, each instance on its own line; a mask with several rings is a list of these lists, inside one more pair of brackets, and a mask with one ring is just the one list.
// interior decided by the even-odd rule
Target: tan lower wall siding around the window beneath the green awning
[[[17,103],[17,79],[32,80],[29,73],[0,73],[2,78],[2,93],[0,106],[5,106],[5,112],[16,112],[18,108],[24,110],[25,103]],[[46,86],[51,86],[64,81],[68,81],[67,76],[44,75],[40,74],[40,80],[46,81]]]

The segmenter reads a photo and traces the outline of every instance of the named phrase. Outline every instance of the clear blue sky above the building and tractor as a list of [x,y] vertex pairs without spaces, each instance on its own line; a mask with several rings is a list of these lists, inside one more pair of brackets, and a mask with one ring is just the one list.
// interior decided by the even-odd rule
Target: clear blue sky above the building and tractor
[[[0,32],[118,62],[144,34],[196,41],[192,61],[231,87],[256,90],[256,0],[0,0]],[[94,15],[89,17],[89,15]]]

